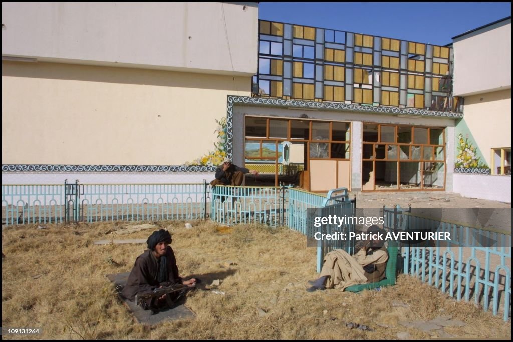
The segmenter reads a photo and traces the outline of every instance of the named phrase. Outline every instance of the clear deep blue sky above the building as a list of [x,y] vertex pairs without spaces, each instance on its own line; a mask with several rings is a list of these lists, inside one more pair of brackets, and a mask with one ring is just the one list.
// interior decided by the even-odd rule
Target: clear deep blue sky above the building
[[446,45],[511,15],[510,2],[260,2],[259,19]]

